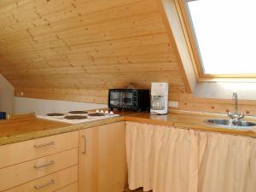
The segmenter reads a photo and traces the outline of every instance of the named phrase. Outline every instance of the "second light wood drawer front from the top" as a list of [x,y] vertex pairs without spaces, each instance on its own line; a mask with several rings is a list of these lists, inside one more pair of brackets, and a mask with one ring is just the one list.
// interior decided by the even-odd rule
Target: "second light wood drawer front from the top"
[[78,164],[78,148],[0,169],[0,191]]

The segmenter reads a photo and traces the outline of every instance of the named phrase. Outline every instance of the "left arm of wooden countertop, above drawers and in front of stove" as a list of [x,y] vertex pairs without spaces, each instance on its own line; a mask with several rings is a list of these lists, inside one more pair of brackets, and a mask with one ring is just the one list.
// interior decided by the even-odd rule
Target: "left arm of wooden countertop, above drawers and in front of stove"
[[67,124],[59,121],[39,119],[31,116],[24,119],[0,121],[0,146],[9,143],[23,142],[39,137],[47,137],[70,131],[78,131],[99,125],[107,125],[123,120],[123,116],[91,121],[84,124]]

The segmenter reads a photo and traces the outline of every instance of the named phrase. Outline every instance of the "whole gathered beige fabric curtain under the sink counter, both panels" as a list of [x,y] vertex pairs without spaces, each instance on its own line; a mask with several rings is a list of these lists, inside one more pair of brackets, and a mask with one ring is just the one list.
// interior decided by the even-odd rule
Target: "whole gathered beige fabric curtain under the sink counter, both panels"
[[255,140],[126,122],[129,188],[255,192]]

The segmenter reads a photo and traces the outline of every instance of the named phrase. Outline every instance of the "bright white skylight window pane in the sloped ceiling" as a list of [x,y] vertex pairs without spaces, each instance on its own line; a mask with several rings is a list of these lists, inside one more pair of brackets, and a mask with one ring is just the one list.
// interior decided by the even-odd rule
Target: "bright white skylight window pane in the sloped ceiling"
[[202,75],[256,77],[256,1],[186,3]]

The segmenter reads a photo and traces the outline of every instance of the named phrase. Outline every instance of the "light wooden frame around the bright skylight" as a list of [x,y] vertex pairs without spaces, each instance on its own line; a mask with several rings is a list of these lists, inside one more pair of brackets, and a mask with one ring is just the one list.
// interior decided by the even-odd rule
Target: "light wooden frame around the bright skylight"
[[198,47],[197,38],[193,26],[192,19],[189,13],[188,2],[196,0],[174,0],[177,14],[181,21],[186,43],[189,48],[191,60],[193,62],[195,73],[198,81],[209,81],[218,79],[256,79],[256,73],[235,73],[235,74],[216,74],[204,73],[203,63],[201,60],[201,53]]

